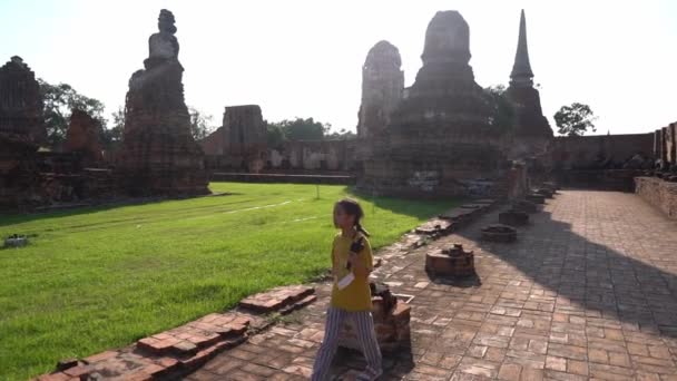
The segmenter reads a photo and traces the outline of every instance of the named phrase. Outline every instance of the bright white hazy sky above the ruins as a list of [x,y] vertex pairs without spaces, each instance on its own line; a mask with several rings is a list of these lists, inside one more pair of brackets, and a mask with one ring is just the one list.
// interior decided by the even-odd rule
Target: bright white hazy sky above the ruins
[[38,77],[70,84],[112,113],[143,68],[161,8],[176,17],[186,102],[215,125],[225,106],[258,104],[268,120],[314,117],[354,130],[369,49],[381,39],[394,43],[410,86],[438,10],[459,10],[470,25],[478,84],[507,85],[521,8],[552,126],[557,109],[572,101],[591,106],[598,134],[677,120],[671,0],[0,0],[0,65],[21,56]]

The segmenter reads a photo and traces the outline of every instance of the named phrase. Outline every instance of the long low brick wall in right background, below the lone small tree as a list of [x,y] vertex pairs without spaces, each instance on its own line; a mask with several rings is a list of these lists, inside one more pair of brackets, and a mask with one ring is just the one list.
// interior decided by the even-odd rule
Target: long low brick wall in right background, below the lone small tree
[[552,162],[559,169],[622,168],[634,155],[648,158],[654,152],[654,134],[558,136]]

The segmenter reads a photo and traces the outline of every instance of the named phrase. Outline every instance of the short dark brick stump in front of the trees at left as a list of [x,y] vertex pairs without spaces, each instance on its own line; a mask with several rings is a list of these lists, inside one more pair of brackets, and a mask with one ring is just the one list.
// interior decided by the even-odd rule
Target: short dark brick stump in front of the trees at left
[[73,153],[84,167],[97,167],[104,162],[99,130],[101,126],[86,111],[73,109],[66,134],[63,149]]

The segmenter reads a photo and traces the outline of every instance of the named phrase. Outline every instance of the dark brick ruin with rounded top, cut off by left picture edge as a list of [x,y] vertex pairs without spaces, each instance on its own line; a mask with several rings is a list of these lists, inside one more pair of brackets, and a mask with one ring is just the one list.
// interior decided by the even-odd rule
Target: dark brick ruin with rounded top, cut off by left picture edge
[[42,198],[37,150],[46,136],[40,86],[14,56],[0,68],[0,208]]

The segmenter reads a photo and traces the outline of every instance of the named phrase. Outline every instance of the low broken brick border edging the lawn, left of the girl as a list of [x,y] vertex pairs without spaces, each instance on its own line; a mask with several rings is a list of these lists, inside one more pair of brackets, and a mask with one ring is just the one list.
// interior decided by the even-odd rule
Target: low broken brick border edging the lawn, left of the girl
[[302,285],[273,289],[241,301],[248,311],[212,313],[119,350],[63,360],[55,372],[38,380],[177,379],[268,326],[272,319],[259,313],[288,313],[315,301],[314,293],[315,289]]

